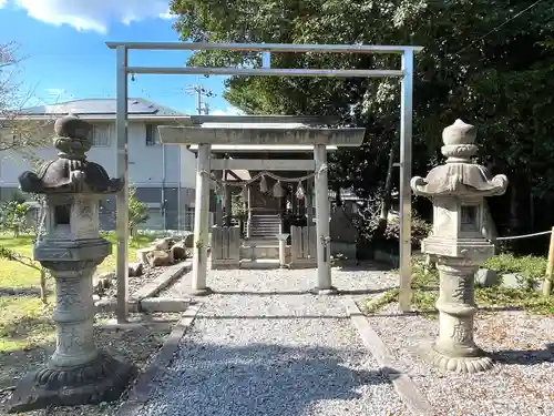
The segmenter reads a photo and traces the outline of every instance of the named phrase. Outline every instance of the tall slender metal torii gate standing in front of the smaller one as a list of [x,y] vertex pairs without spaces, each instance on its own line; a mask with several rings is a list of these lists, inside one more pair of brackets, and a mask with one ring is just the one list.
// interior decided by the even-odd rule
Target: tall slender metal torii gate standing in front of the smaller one
[[[369,45],[369,44],[285,44],[285,43],[203,43],[203,42],[106,42],[116,50],[116,135],[117,176],[129,184],[127,165],[127,83],[129,74],[204,74],[204,75],[278,75],[278,77],[340,77],[340,78],[399,78],[400,94],[400,296],[401,311],[410,310],[411,298],[411,160],[412,160],[412,93],[413,58],[421,47]],[[130,50],[225,50],[235,52],[258,52],[263,68],[163,68],[129,65]],[[284,69],[271,68],[271,53],[372,53],[401,57],[401,69],[392,70],[335,70],[335,69]],[[315,143],[315,152],[322,152],[325,141]],[[204,143],[206,144],[206,143]],[[324,148],[321,148],[324,145]],[[318,150],[319,149],[319,150]],[[199,152],[198,152],[199,153]],[[203,154],[209,158],[206,148]],[[322,154],[320,154],[322,155]],[[203,185],[205,186],[205,185]],[[203,193],[204,194],[204,193]],[[129,187],[116,199],[117,237],[117,308],[119,322],[127,319],[129,310]]]

